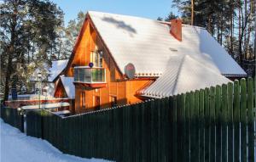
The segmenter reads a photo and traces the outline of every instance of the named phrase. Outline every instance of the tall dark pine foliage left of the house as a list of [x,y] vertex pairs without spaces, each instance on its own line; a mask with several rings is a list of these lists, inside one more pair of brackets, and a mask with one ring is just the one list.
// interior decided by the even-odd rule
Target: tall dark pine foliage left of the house
[[4,0],[0,4],[4,101],[8,100],[10,86],[16,88],[24,82],[27,64],[49,64],[58,37],[55,29],[62,25],[62,15],[61,9],[48,0]]

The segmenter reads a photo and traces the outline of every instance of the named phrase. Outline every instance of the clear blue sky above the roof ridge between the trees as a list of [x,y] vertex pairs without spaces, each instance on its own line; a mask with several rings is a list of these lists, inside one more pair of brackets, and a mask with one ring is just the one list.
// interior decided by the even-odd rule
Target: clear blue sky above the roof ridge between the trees
[[65,25],[77,17],[79,11],[102,11],[113,14],[127,14],[156,20],[166,17],[171,11],[172,0],[51,0],[64,12]]

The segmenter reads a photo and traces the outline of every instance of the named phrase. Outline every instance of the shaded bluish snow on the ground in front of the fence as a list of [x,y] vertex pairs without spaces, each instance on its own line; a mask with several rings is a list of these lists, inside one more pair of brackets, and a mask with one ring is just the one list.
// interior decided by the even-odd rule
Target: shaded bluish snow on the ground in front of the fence
[[103,159],[83,159],[62,154],[49,142],[28,137],[0,119],[0,162],[103,162]]

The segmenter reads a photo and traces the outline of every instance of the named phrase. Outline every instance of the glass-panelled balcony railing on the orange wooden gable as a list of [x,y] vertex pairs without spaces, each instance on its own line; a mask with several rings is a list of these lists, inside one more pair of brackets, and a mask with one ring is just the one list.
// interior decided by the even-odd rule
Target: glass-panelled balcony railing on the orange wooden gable
[[90,68],[89,66],[74,67],[74,82],[81,83],[105,83],[106,69],[104,68]]

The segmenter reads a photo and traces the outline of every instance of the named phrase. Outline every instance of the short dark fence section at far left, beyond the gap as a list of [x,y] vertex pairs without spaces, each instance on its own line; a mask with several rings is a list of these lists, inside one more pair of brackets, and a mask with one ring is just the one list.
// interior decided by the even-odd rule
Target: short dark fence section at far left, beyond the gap
[[12,109],[3,105],[0,106],[0,109],[0,116],[4,122],[8,123],[11,126],[15,126],[22,132],[24,131],[23,116],[20,115],[20,112],[17,109]]

